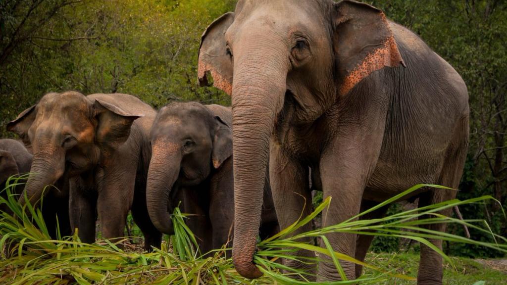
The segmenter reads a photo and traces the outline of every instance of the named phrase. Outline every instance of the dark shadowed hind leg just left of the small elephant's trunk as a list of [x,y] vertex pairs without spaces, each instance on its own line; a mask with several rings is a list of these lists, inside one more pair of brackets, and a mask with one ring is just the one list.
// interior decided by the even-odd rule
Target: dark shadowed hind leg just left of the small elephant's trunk
[[144,236],[144,250],[152,251],[152,246],[160,248],[162,233],[153,225],[146,204],[146,186],[136,186],[132,203],[132,218]]

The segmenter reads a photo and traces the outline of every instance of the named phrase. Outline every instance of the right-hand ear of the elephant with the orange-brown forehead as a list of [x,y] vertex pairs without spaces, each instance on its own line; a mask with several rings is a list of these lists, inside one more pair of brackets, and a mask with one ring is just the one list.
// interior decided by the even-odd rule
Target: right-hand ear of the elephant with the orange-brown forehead
[[130,114],[121,108],[95,99],[94,117],[97,122],[95,141],[106,154],[116,151],[128,139],[130,128],[135,119],[142,114]]

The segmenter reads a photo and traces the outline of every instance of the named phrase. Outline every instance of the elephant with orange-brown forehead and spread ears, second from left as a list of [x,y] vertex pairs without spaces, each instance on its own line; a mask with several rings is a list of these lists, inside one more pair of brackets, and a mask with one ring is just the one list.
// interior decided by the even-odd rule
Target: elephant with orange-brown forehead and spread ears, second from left
[[[68,212],[82,242],[124,236],[128,211],[144,235],[144,249],[160,246],[162,234],[146,207],[149,132],[156,111],[127,94],[48,93],[7,125],[33,149],[25,192],[30,202],[46,185],[69,182]],[[24,204],[24,199],[19,202]]]

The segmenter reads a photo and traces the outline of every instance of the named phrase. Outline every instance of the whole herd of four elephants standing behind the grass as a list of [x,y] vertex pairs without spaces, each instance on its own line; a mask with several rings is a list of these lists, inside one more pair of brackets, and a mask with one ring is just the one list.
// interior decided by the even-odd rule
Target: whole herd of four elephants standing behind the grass
[[[416,34],[370,5],[239,0],[203,33],[197,68],[201,85],[212,76],[232,96],[232,109],[187,102],[157,112],[126,94],[49,93],[8,124],[29,152],[2,141],[2,163],[15,161],[2,174],[32,172],[24,188],[31,202],[55,185],[45,193],[54,205],[49,223],[55,213],[66,216],[67,233],[78,228],[85,242],[94,241],[97,217],[103,237],[123,236],[131,211],[145,249],[159,246],[182,201],[196,214],[188,224],[201,250],[234,237],[235,268],[248,278],[262,275],[253,263],[259,235],[312,210],[310,184],[333,197],[322,226],[415,184],[458,187],[468,147],[466,85]],[[424,188],[406,199],[424,206],[455,195]],[[364,260],[372,236],[328,240]],[[319,260],[284,262],[310,279],[340,280],[329,257]],[[340,262],[348,279],[361,274]],[[418,284],[442,284],[442,275],[442,258],[421,244]]]

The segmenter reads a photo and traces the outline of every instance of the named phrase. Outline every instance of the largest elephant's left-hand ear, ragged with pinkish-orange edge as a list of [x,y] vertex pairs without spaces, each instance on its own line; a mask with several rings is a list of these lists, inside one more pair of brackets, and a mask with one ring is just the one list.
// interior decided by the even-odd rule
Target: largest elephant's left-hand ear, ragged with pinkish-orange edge
[[213,85],[232,94],[232,60],[227,54],[225,32],[234,21],[234,13],[229,12],[213,21],[204,31],[199,47],[198,78],[201,86],[209,86],[208,76],[213,77]]

